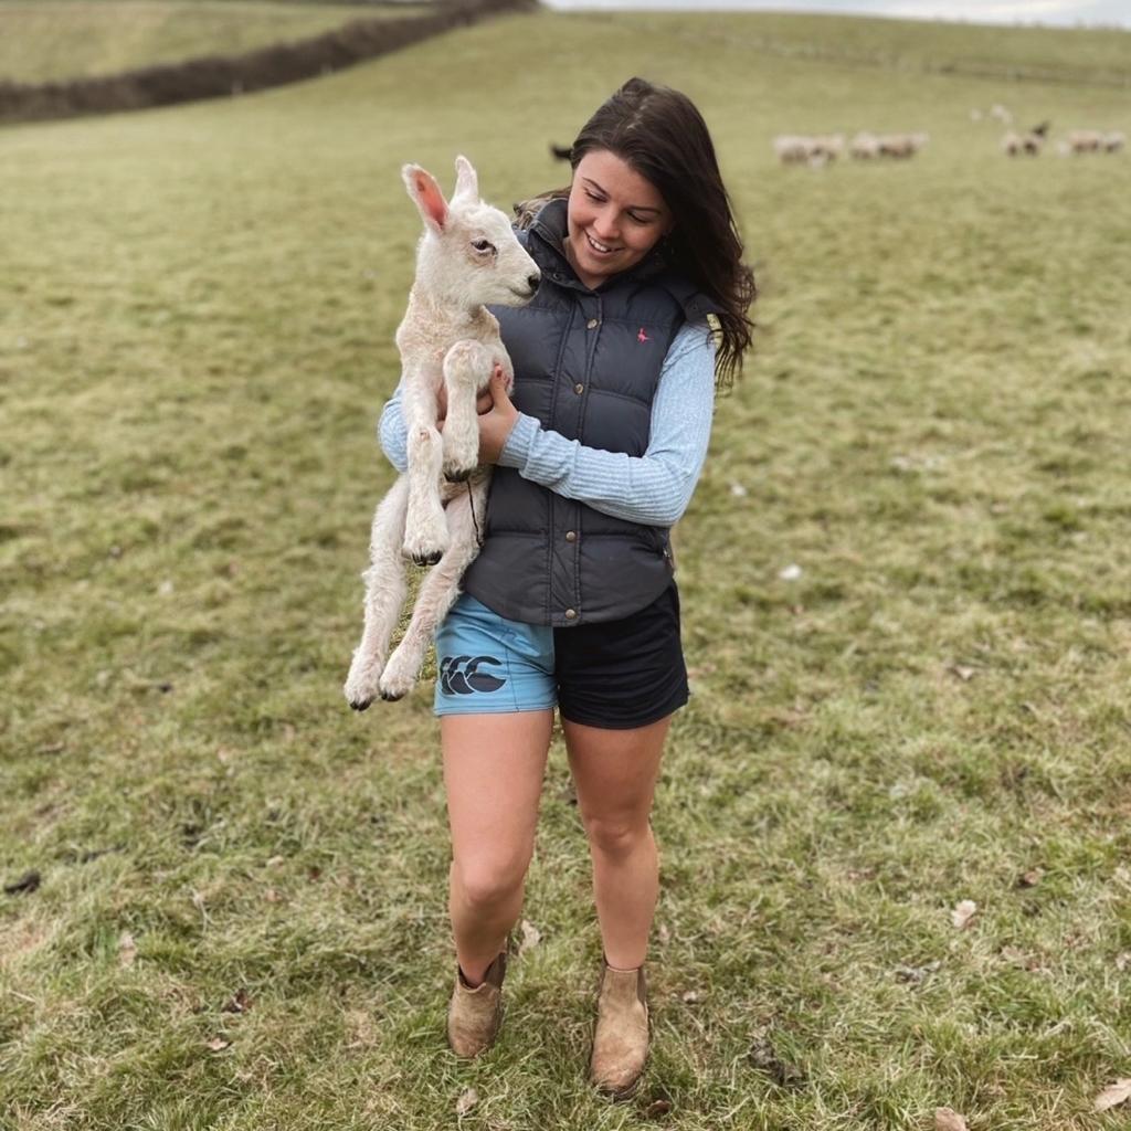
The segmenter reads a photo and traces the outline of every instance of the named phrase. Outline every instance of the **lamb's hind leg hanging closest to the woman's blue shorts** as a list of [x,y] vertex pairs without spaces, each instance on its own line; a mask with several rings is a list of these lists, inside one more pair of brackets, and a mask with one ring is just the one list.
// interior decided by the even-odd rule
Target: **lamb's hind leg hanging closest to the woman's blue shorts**
[[459,596],[459,579],[480,552],[478,530],[483,528],[489,483],[490,476],[470,484],[448,503],[451,544],[421,585],[408,628],[381,675],[382,699],[400,699],[412,690],[437,625]]

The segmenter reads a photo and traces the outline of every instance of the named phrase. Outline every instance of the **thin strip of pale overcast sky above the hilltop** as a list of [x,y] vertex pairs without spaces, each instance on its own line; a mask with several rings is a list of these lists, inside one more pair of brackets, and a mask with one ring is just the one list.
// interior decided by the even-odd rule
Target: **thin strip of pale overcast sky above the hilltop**
[[690,8],[832,11],[978,24],[1120,25],[1131,28],[1131,0],[544,0],[551,8]]

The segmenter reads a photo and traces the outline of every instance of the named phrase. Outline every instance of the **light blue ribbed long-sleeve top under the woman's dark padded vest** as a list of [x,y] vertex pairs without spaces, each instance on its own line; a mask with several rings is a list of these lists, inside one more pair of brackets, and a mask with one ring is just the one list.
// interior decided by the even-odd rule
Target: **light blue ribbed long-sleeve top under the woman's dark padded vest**
[[[603,515],[672,526],[687,510],[702,472],[714,407],[715,343],[706,322],[688,323],[664,359],[642,456],[587,448],[519,413],[499,465]],[[399,385],[381,411],[378,433],[389,463],[404,472],[408,440]]]

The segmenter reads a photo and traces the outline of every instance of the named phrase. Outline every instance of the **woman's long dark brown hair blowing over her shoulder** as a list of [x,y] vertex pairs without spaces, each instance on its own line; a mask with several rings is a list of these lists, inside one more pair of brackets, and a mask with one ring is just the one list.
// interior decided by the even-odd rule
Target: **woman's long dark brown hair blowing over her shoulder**
[[746,311],[757,290],[702,114],[685,94],[630,78],[581,127],[570,148],[575,172],[594,149],[616,154],[671,208],[675,227],[662,249],[674,270],[717,303],[715,372],[720,386],[729,385],[750,345]]

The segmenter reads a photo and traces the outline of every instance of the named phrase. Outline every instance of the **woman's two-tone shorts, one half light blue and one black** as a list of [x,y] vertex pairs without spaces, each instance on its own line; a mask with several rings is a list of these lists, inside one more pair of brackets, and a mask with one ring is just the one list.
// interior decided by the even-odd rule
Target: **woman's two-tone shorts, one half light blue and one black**
[[688,701],[673,581],[618,621],[555,629],[509,621],[461,594],[435,634],[435,714],[552,710],[608,729],[647,726]]

